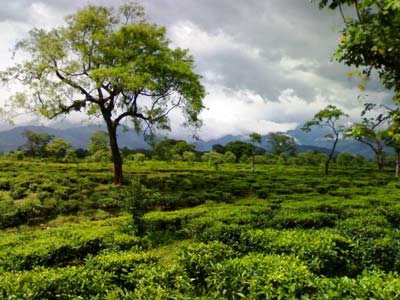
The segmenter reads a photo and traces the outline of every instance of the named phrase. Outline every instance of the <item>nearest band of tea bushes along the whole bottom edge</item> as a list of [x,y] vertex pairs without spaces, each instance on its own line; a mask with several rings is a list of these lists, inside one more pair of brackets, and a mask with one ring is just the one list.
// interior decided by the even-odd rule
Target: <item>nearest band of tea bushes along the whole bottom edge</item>
[[79,266],[0,274],[3,299],[397,299],[397,273],[326,278],[285,254],[238,255],[220,242],[192,243],[173,266],[147,253],[88,257]]

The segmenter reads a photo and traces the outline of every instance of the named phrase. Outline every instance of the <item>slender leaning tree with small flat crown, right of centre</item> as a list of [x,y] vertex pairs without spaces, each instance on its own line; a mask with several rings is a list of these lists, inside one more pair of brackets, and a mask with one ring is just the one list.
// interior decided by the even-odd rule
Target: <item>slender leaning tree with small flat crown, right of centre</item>
[[329,128],[331,131],[331,133],[325,136],[327,139],[332,141],[331,150],[325,160],[325,175],[328,175],[329,173],[329,164],[335,154],[339,137],[344,131],[344,126],[336,124],[341,117],[347,117],[347,115],[336,106],[328,105],[326,108],[316,113],[314,118],[311,121],[306,122],[302,128],[302,130],[309,132],[311,131],[311,127],[318,126]]

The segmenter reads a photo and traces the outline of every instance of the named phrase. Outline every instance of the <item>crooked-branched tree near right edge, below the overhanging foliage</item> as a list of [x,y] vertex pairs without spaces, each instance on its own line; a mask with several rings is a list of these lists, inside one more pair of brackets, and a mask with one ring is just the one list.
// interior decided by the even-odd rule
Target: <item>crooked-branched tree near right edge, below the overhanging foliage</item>
[[[376,110],[377,105],[366,103],[361,116],[365,116],[367,112]],[[353,137],[356,141],[367,145],[375,154],[378,170],[384,168],[383,149],[390,142],[387,138],[383,124],[390,119],[390,113],[380,113],[375,118],[364,117],[361,123],[356,123],[346,129],[345,137]]]

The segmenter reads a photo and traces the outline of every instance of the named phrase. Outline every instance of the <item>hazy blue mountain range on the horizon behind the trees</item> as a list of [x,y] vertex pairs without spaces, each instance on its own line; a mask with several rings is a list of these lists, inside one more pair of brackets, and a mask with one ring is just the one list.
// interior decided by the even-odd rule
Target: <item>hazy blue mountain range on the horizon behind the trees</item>
[[[90,141],[90,136],[93,132],[97,130],[105,130],[104,126],[101,125],[90,125],[90,126],[70,126],[70,127],[59,127],[59,126],[18,126],[13,127],[8,130],[0,131],[0,152],[6,153],[10,151],[15,151],[18,147],[25,143],[25,138],[22,133],[25,130],[31,130],[38,133],[49,133],[57,138],[63,138],[67,142],[71,143],[74,148],[87,148]],[[290,130],[285,132],[296,139],[298,144],[298,152],[305,152],[308,150],[317,150],[322,152],[329,151],[331,143],[324,139],[324,136],[328,132],[324,129],[315,128],[311,132],[304,132],[300,128]],[[118,132],[118,139],[120,147],[128,147],[132,149],[149,149],[150,146],[145,142],[143,135],[137,134],[134,130]],[[200,151],[210,151],[212,146],[215,144],[226,145],[231,141],[248,141],[247,136],[240,135],[226,135],[218,139],[203,141],[199,140],[194,142],[196,148]],[[188,141],[191,143],[191,141]],[[271,150],[268,144],[268,135],[262,136],[262,143],[260,144],[262,148]],[[365,157],[372,158],[373,153],[364,144],[357,141],[346,139],[339,141],[337,152],[350,152],[362,154]]]

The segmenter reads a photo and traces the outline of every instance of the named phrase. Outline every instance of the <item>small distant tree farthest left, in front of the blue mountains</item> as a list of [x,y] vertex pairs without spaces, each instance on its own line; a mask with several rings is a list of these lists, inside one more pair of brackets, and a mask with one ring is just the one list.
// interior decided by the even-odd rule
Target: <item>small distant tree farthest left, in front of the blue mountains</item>
[[37,133],[31,130],[25,130],[22,135],[26,138],[26,142],[21,149],[26,156],[31,157],[45,157],[46,147],[54,138],[49,133]]

